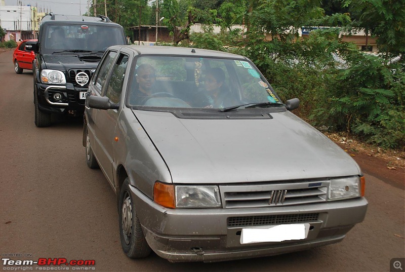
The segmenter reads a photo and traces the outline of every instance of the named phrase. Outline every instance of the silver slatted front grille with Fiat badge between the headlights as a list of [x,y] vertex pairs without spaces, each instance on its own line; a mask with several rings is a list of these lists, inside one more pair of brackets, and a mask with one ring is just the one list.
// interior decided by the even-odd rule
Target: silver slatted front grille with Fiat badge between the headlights
[[329,181],[220,186],[223,208],[301,205],[327,199]]

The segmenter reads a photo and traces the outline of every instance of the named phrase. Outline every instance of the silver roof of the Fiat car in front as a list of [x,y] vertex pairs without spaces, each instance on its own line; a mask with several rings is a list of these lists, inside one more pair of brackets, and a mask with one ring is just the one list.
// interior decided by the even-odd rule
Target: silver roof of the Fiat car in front
[[247,60],[247,57],[200,48],[189,47],[172,47],[172,46],[138,46],[138,45],[117,45],[110,47],[111,49],[119,50],[121,48],[127,48],[140,55],[182,55],[182,56],[204,56],[204,57],[220,57],[220,58],[236,58]]

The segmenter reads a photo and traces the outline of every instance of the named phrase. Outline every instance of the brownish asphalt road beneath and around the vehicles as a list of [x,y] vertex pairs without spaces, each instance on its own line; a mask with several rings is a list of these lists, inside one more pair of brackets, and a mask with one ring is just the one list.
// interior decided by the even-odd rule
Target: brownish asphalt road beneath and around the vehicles
[[[2,258],[95,260],[96,271],[389,271],[391,258],[405,257],[404,191],[366,175],[366,219],[338,244],[219,263],[170,263],[154,253],[129,259],[119,242],[114,192],[100,170],[86,166],[82,120],[58,118],[36,128],[32,101],[31,71],[16,74],[12,51],[1,53]],[[3,262],[0,269],[10,270]]]

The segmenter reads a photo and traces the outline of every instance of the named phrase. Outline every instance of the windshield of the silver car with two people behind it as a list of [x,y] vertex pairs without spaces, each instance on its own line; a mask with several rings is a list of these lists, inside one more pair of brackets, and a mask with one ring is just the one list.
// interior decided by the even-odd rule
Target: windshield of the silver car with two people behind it
[[130,106],[227,111],[282,105],[246,59],[140,56],[133,70],[127,97]]

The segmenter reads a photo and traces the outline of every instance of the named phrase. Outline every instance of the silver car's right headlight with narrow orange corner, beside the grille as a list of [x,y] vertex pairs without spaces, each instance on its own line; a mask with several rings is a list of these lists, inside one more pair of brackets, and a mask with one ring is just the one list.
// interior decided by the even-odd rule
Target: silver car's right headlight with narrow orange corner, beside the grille
[[332,179],[329,187],[329,200],[351,199],[363,196],[364,182],[360,177]]

